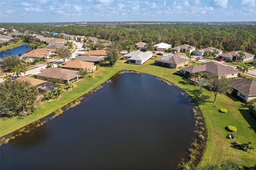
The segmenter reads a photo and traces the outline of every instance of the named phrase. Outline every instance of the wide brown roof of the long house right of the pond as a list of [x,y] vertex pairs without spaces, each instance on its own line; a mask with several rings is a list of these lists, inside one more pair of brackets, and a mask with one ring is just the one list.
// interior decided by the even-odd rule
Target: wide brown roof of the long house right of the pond
[[222,65],[214,61],[202,63],[202,65],[196,65],[193,67],[182,68],[182,70],[190,73],[207,71],[218,76],[239,73],[239,71],[235,70],[233,67]]

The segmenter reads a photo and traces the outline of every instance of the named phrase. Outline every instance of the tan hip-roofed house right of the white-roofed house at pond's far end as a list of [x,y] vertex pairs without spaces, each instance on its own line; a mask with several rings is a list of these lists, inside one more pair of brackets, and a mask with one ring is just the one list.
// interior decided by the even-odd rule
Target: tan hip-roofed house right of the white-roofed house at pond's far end
[[160,65],[162,67],[174,68],[178,69],[180,67],[184,67],[189,63],[189,59],[185,57],[180,57],[176,54],[168,55],[166,57],[162,57],[160,59],[155,60],[155,65]]

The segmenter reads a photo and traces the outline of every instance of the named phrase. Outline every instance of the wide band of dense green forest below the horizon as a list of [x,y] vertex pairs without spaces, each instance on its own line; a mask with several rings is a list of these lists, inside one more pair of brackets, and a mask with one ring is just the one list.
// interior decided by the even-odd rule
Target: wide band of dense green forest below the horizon
[[207,24],[140,24],[140,25],[93,25],[61,26],[47,24],[2,24],[2,28],[41,31],[70,35],[92,36],[110,41],[169,43],[172,47],[184,43],[202,49],[216,47],[224,51],[242,50],[256,54],[256,26],[254,25],[207,25]]

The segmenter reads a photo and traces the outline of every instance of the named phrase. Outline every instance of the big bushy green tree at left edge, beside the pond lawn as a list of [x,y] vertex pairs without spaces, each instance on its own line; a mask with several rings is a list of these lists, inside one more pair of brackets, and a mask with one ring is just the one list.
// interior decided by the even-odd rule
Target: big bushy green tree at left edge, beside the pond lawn
[[23,117],[34,110],[38,89],[28,81],[6,80],[0,84],[0,94],[1,113]]

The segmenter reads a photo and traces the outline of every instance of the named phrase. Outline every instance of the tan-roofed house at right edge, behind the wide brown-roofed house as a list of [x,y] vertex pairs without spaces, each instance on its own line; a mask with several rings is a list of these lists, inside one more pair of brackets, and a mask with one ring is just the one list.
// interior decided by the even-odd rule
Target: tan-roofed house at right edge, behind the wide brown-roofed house
[[239,53],[241,52],[241,50],[238,50],[238,51],[232,51],[232,52],[229,52],[229,53],[224,53],[224,54],[221,54],[219,58],[224,58],[224,60],[229,60],[229,59],[232,59],[232,60],[240,60],[240,61],[249,61],[249,60],[253,60],[254,59],[254,54],[250,54],[250,53],[247,53],[247,52],[244,52],[245,56],[244,57],[240,57],[239,56]]

